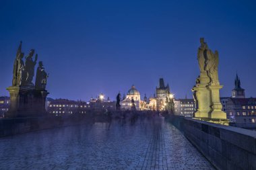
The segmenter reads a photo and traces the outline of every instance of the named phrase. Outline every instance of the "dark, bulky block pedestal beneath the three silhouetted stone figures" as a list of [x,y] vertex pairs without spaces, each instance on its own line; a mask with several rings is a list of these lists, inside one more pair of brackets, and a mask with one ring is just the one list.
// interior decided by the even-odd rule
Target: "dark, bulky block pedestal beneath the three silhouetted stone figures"
[[42,116],[45,111],[47,91],[28,87],[8,87],[10,106],[5,118]]

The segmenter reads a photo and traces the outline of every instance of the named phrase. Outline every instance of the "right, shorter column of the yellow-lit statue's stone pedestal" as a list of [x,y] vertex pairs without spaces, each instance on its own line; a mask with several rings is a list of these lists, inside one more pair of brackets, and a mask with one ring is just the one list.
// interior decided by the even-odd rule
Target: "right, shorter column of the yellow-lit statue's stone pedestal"
[[212,119],[226,119],[226,113],[222,111],[222,103],[220,103],[220,89],[222,89],[222,85],[210,85],[208,89],[210,89],[212,103],[211,103],[211,112],[209,118]]

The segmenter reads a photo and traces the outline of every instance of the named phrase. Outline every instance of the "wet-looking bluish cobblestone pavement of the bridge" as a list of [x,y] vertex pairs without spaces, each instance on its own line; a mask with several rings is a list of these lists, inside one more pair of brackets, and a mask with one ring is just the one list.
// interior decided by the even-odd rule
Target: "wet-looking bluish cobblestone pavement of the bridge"
[[0,138],[0,169],[214,169],[163,118]]

